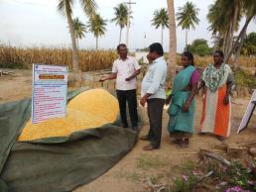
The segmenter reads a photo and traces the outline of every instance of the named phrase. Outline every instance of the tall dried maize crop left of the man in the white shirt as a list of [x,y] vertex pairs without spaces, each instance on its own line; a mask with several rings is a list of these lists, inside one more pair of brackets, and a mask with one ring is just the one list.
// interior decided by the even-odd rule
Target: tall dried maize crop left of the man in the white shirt
[[[115,50],[79,50],[81,71],[111,67]],[[67,65],[71,68],[70,48],[19,48],[0,45],[0,68],[32,68],[32,63]]]

